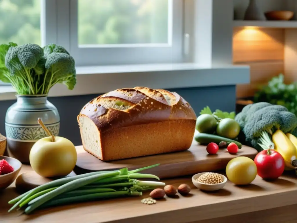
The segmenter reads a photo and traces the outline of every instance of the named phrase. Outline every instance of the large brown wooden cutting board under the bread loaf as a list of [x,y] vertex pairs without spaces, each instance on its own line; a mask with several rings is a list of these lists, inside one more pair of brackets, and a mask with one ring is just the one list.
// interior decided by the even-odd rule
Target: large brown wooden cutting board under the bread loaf
[[77,146],[76,150],[78,153],[76,170],[79,174],[92,171],[116,170],[124,167],[137,169],[159,163],[160,166],[143,171],[143,173],[151,173],[161,179],[220,170],[226,168],[232,158],[246,156],[254,159],[257,155],[257,150],[248,146],[242,146],[236,155],[231,155],[227,149],[220,149],[217,154],[209,155],[206,152],[206,146],[198,145],[196,141],[193,141],[189,150],[183,152],[165,153],[110,162],[103,162],[97,159],[90,153],[87,153],[83,149],[83,146]]

